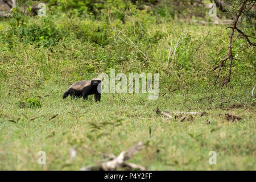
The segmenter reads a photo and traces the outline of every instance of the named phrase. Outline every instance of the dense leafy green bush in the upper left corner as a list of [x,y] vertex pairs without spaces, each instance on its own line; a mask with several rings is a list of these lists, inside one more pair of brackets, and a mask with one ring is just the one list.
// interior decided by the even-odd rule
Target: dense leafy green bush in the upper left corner
[[8,43],[10,47],[16,45],[16,39],[24,43],[35,44],[37,47],[56,46],[65,36],[65,31],[56,27],[51,16],[40,19],[39,22],[30,23],[30,16],[23,14],[19,6],[14,8],[13,18],[10,19],[10,30],[1,31],[0,40]]

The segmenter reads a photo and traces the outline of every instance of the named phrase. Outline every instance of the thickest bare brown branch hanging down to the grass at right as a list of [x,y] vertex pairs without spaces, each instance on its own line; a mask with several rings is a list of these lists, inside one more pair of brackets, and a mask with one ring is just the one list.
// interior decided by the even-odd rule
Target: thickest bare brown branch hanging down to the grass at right
[[[232,72],[232,66],[233,66],[233,54],[232,54],[232,39],[233,39],[233,36],[234,36],[234,30],[237,30],[237,22],[238,22],[238,19],[240,18],[241,14],[242,14],[242,11],[243,9],[245,9],[245,6],[246,6],[246,3],[247,3],[247,0],[243,0],[241,6],[240,6],[240,9],[238,10],[237,12],[237,15],[236,15],[236,18],[234,19],[234,22],[233,22],[233,26],[231,27],[232,30],[230,32],[230,35],[229,35],[229,47],[228,47],[228,56],[225,57],[224,59],[221,60],[221,63],[219,65],[217,65],[217,67],[214,67],[212,69],[212,71],[216,70],[218,68],[218,72],[217,72],[217,76],[216,76],[216,81],[214,82],[214,85],[217,84],[218,82],[218,78],[220,76],[220,72],[221,72],[221,68],[224,66],[226,60],[230,60],[230,64],[229,64],[229,74],[228,74],[228,78],[226,78],[226,80],[223,82],[222,86],[228,84],[230,82],[230,78],[231,78],[231,72]],[[238,31],[239,32],[239,31]]]

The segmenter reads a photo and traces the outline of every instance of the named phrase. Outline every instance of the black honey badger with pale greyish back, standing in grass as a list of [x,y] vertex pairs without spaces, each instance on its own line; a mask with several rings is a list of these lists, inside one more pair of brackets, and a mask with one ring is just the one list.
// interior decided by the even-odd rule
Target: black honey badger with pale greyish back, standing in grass
[[87,100],[89,95],[95,94],[95,101],[101,101],[101,93],[98,92],[100,83],[101,80],[99,78],[77,81],[63,94],[63,99],[70,95],[71,97],[83,97],[84,100]]

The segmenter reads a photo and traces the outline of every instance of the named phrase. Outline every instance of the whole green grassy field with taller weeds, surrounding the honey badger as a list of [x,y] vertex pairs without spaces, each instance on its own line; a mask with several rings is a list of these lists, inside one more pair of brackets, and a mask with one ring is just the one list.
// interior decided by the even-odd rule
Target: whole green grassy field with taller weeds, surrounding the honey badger
[[[121,23],[118,13],[94,19],[52,10],[45,18],[28,18],[22,30],[1,20],[0,169],[79,170],[102,160],[102,153],[118,155],[141,141],[143,150],[129,162],[149,170],[255,170],[255,49],[239,52],[245,42],[237,40],[240,60],[232,81],[213,86],[216,72],[210,69],[227,53],[225,26],[163,18],[133,6]],[[253,32],[249,24],[246,30]],[[179,37],[166,64],[171,40],[176,44]],[[102,94],[101,102],[62,99],[73,82],[111,68],[159,73],[159,98],[114,93]],[[207,114],[179,122],[156,114],[156,107]],[[228,121],[225,114],[242,119]],[[73,159],[69,148],[76,151]],[[39,151],[46,152],[45,165],[38,164]],[[208,163],[210,151],[216,151],[216,165]]]

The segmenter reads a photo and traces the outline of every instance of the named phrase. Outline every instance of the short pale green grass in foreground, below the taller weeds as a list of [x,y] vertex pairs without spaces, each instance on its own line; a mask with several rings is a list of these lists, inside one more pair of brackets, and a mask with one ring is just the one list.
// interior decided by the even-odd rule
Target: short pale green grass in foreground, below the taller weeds
[[[97,103],[92,97],[86,102],[62,100],[64,86],[51,87],[59,90],[56,94],[49,88],[37,93],[50,95],[40,99],[39,109],[19,109],[11,103],[15,97],[1,99],[6,104],[1,115],[1,169],[77,170],[103,159],[101,152],[118,155],[139,141],[147,147],[131,162],[147,169],[255,169],[255,109],[207,109],[196,99],[184,104],[180,94],[152,101],[131,94],[105,94]],[[205,110],[208,115],[179,122],[157,115],[156,106],[169,111]],[[225,113],[240,115],[242,120],[228,122],[218,115]],[[7,121],[19,117],[17,123]],[[72,161],[70,147],[77,151]],[[39,151],[46,152],[46,165],[37,163]],[[209,151],[217,152],[216,165],[208,164]]]

